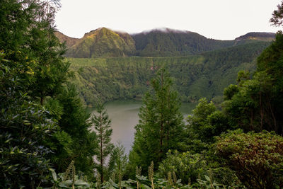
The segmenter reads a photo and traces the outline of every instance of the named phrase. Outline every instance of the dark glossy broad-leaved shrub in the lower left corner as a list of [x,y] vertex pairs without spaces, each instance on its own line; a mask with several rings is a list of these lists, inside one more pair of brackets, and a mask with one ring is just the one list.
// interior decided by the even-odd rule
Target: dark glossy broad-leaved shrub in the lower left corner
[[21,91],[25,80],[0,57],[0,187],[35,188],[45,185],[51,151],[43,141],[57,129],[48,112]]

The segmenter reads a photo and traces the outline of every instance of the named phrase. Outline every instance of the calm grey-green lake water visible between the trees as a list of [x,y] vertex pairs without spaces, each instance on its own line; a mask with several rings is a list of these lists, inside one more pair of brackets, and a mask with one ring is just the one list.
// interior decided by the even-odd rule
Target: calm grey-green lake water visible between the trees
[[[195,103],[182,103],[180,107],[184,118],[195,108]],[[112,121],[112,142],[118,141],[125,147],[125,152],[129,154],[134,142],[134,126],[139,122],[139,108],[141,101],[112,101],[105,104],[105,109]],[[91,113],[95,113],[94,108],[90,108]]]

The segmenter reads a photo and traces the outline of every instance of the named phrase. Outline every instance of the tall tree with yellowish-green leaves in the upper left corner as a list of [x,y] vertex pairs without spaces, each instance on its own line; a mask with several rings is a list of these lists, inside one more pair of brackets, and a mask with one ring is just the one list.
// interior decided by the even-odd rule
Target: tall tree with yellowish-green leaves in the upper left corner
[[54,35],[59,1],[4,0],[0,6],[0,50],[11,60],[11,67],[23,60],[19,71],[30,81],[27,92],[43,104],[46,96],[59,93],[68,76],[69,62],[62,56],[66,48]]

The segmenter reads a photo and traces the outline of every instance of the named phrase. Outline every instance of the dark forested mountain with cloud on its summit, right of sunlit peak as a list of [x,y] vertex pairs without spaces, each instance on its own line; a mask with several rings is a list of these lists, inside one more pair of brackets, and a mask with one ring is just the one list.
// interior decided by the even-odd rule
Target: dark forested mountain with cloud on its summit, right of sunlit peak
[[197,33],[168,28],[138,33],[132,37],[136,42],[137,55],[141,57],[196,55],[234,45],[232,40],[212,40]]

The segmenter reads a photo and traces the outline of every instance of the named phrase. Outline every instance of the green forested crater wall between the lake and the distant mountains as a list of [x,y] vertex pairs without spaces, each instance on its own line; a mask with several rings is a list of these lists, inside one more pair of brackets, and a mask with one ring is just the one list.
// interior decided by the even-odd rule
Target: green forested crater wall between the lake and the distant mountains
[[240,70],[255,70],[255,59],[270,42],[253,42],[187,57],[69,58],[74,83],[86,104],[141,98],[156,70],[165,66],[182,101],[220,98]]

